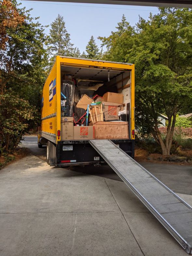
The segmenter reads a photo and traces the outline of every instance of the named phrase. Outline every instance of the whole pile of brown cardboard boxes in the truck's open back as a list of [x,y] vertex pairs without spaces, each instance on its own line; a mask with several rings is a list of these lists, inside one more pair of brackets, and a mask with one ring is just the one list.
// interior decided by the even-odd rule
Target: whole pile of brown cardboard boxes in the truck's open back
[[61,122],[62,140],[127,139],[128,122],[118,121],[118,112],[123,110],[123,94],[106,92],[91,99],[86,94],[76,107],[87,110],[91,103],[102,102],[104,121],[90,123],[89,126],[74,126],[73,117],[64,117]]

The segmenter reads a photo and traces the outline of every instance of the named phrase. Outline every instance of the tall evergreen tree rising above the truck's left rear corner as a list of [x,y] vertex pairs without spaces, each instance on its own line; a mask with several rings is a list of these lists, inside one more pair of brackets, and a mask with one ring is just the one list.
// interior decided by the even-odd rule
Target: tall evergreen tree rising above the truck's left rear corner
[[74,48],[70,41],[70,34],[66,30],[64,19],[58,14],[57,18],[51,23],[47,40],[51,62],[56,55],[73,56]]

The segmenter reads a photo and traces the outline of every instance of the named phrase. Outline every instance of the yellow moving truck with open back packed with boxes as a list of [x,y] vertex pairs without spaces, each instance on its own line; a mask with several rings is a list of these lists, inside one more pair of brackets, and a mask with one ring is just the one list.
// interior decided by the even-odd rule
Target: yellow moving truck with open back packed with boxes
[[48,164],[103,162],[89,139],[111,139],[134,157],[134,137],[134,64],[56,56],[38,129]]

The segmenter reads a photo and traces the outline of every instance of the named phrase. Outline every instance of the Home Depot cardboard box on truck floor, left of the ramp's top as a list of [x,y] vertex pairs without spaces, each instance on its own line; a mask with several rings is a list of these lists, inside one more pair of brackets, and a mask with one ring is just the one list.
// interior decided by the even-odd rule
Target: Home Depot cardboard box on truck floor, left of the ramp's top
[[86,140],[95,138],[95,129],[93,126],[74,126],[74,139]]

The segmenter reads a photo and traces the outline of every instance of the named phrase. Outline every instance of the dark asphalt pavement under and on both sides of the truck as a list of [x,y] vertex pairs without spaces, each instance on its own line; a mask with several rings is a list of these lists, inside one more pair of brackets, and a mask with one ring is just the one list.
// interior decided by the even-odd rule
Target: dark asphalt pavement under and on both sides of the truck
[[[32,151],[35,156],[46,161],[46,146],[39,149],[37,146],[37,136],[25,136],[22,145]],[[161,182],[168,186],[176,193],[192,195],[192,166],[191,165],[176,165],[176,164],[154,164],[150,162],[142,162],[145,169],[157,177]],[[100,167],[91,165],[71,166],[67,169],[100,176],[103,178],[110,178],[122,181],[118,175],[108,166],[102,165]]]

